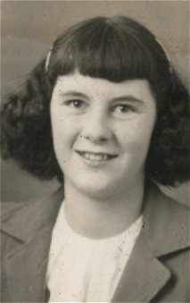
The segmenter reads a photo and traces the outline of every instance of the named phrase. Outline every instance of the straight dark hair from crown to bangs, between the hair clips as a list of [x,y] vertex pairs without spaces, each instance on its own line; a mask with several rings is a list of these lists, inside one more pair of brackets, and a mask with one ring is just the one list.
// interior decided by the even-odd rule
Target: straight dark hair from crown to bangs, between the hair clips
[[161,62],[161,55],[155,60],[153,52],[159,50],[151,43],[153,35],[137,22],[138,30],[120,23],[100,17],[69,29],[54,43],[48,67],[50,79],[54,81],[59,75],[78,70],[83,75],[114,82],[152,81],[165,60]]

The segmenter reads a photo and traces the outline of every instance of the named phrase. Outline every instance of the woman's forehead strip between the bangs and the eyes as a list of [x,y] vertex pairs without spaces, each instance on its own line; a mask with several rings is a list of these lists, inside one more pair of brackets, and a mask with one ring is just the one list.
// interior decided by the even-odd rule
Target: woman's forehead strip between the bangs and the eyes
[[67,94],[70,92],[82,93],[91,97],[94,95],[104,97],[120,97],[121,95],[131,95],[143,99],[153,98],[148,80],[124,80],[112,82],[110,80],[92,78],[73,72],[57,78],[54,92]]

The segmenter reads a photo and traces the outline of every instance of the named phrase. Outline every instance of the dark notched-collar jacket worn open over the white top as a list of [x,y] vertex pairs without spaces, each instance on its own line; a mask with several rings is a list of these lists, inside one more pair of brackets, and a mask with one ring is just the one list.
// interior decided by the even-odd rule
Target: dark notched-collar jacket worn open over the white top
[[[62,198],[60,189],[41,200],[4,204],[2,302],[47,300],[47,258]],[[112,302],[189,302],[186,207],[151,185],[145,193],[144,221]]]

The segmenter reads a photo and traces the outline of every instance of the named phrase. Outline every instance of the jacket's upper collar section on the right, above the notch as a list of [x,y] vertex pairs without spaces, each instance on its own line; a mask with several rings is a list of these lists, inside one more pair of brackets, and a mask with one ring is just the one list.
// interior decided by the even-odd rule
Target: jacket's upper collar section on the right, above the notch
[[189,248],[188,208],[169,198],[156,186],[145,203],[145,238],[155,256]]

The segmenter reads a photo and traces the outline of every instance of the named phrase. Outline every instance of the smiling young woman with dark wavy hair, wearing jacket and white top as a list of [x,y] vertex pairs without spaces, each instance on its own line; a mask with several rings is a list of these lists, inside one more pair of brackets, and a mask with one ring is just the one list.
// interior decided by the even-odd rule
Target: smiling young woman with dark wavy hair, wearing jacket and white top
[[61,189],[5,204],[5,302],[188,302],[188,93],[127,17],[57,38],[2,109],[2,154]]

